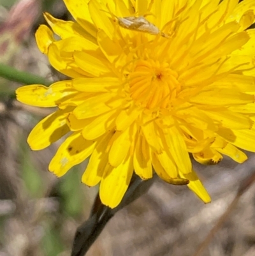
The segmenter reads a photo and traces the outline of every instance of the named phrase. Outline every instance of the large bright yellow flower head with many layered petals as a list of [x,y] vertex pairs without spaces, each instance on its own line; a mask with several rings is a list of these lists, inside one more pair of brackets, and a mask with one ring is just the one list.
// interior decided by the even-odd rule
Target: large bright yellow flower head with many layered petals
[[40,26],[36,41],[71,80],[17,90],[20,102],[58,107],[30,133],[31,148],[70,132],[49,170],[62,176],[90,156],[82,182],[100,182],[110,207],[133,170],[189,183],[209,202],[189,153],[203,164],[222,154],[242,163],[238,147],[255,151],[254,0],[64,2],[76,21],[45,13],[52,30]]

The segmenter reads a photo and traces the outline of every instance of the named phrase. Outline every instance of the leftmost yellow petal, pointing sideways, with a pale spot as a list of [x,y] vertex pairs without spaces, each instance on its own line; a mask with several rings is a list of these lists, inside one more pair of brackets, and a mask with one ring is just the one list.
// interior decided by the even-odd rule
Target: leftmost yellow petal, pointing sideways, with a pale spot
[[50,87],[33,84],[16,90],[19,102],[36,107],[55,107],[59,100],[72,96],[75,92],[69,80],[55,82]]

